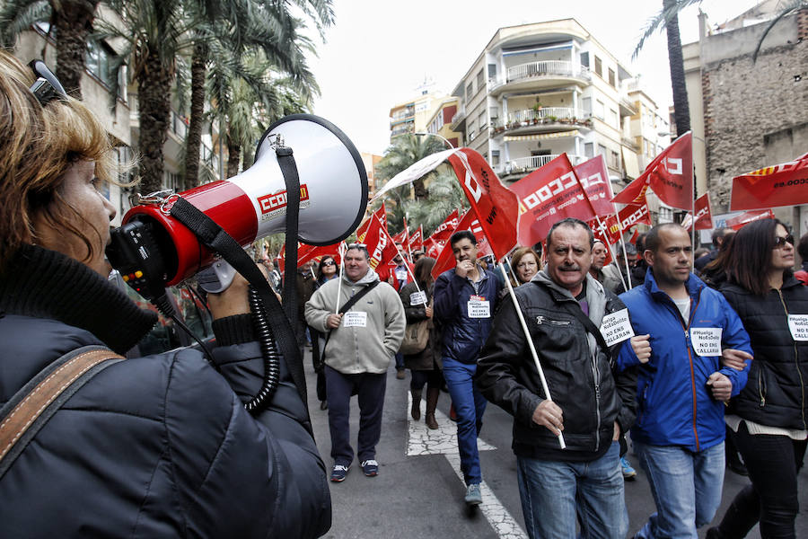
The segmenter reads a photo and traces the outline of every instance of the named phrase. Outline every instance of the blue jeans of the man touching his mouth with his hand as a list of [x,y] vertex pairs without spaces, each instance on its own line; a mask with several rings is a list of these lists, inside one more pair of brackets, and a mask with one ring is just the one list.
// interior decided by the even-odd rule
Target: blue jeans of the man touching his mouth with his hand
[[444,358],[444,378],[457,412],[457,447],[461,455],[461,472],[467,485],[482,482],[479,469],[477,437],[487,401],[474,385],[477,364]]

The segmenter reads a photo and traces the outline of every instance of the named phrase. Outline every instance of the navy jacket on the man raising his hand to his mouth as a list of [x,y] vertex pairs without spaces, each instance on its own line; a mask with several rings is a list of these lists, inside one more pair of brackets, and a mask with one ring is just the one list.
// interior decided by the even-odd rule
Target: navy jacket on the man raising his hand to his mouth
[[[479,350],[491,331],[500,285],[494,273],[479,266],[478,270],[482,278],[476,292],[470,280],[458,277],[454,270],[444,271],[435,280],[435,321],[443,331],[443,358],[476,363]],[[469,317],[471,296],[483,296],[490,302],[488,318]]]

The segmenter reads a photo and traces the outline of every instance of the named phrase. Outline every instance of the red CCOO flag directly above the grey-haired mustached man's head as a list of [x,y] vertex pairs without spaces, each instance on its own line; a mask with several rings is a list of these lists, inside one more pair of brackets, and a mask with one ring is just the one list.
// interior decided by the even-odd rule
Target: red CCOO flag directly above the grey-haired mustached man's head
[[519,243],[523,245],[544,241],[550,227],[561,219],[586,221],[594,216],[566,154],[516,181],[511,190],[519,198]]

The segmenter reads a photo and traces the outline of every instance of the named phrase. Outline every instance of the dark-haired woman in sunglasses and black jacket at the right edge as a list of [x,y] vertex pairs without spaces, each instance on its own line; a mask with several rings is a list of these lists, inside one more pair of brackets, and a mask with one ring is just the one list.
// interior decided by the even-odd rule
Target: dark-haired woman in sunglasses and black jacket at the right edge
[[754,359],[725,420],[751,484],[707,537],[744,537],[759,521],[761,537],[795,537],[808,437],[808,288],[794,278],[794,263],[794,237],[777,219],[745,225],[726,254],[720,289],[741,316]]

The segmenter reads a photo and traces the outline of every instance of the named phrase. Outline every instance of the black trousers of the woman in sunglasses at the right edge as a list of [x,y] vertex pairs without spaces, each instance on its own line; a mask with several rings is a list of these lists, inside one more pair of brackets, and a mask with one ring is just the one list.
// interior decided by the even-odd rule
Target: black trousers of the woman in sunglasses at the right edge
[[786,436],[751,435],[741,422],[735,445],[743,456],[751,484],[733,499],[718,530],[722,537],[745,537],[760,521],[760,536],[794,538],[800,509],[797,473],[803,467],[808,440]]

